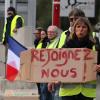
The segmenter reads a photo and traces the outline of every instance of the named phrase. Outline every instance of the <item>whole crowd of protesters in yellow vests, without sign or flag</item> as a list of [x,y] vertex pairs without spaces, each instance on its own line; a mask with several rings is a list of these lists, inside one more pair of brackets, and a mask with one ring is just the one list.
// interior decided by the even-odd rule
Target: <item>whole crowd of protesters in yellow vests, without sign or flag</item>
[[[3,32],[3,44],[6,36],[13,36],[18,28],[23,26],[23,19],[16,14],[13,7],[8,8],[7,23]],[[34,45],[36,49],[47,48],[89,48],[98,51],[98,61],[95,70],[100,72],[100,44],[91,23],[80,9],[72,9],[69,13],[69,29],[59,35],[59,28],[50,25],[47,30],[36,28]],[[96,81],[87,83],[37,83],[40,100],[93,100],[96,98]]]

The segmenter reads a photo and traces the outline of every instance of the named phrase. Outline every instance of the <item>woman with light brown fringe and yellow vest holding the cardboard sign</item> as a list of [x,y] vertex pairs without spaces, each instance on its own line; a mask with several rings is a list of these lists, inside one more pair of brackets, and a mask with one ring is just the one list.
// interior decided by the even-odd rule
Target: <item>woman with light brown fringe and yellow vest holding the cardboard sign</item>
[[[76,20],[64,48],[89,48],[95,50],[90,22],[85,17]],[[96,97],[96,81],[88,83],[61,84],[59,95],[62,100],[93,100]]]

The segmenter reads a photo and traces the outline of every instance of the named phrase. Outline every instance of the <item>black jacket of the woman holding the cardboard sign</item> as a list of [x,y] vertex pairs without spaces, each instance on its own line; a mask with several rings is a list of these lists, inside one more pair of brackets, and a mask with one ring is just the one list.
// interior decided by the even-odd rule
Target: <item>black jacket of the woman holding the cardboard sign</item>
[[[89,48],[92,49],[94,42],[89,39],[89,36],[86,36],[83,39],[78,39],[76,35],[73,36],[72,39],[66,40],[63,48]],[[96,50],[98,52],[98,61],[97,64],[100,64],[100,46],[96,45]]]

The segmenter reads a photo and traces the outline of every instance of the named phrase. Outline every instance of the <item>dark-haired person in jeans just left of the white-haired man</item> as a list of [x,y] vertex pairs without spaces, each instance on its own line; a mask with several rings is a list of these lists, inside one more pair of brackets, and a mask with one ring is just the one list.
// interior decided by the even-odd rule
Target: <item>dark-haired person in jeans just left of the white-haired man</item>
[[[46,48],[49,39],[47,37],[47,31],[42,29],[40,33],[40,41],[37,45],[37,49]],[[40,83],[40,100],[50,100],[48,97],[52,97],[48,91],[47,83]]]

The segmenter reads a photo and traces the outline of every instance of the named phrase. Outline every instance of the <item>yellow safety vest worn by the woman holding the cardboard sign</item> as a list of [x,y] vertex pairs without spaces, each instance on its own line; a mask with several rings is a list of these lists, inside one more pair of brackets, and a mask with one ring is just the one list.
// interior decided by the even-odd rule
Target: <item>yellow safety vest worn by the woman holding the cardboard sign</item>
[[[95,33],[93,32],[93,38],[95,37]],[[95,46],[92,47],[95,50]],[[88,83],[65,83],[61,85],[59,96],[73,96],[77,94],[83,94],[86,97],[96,97],[96,81],[88,82]]]

